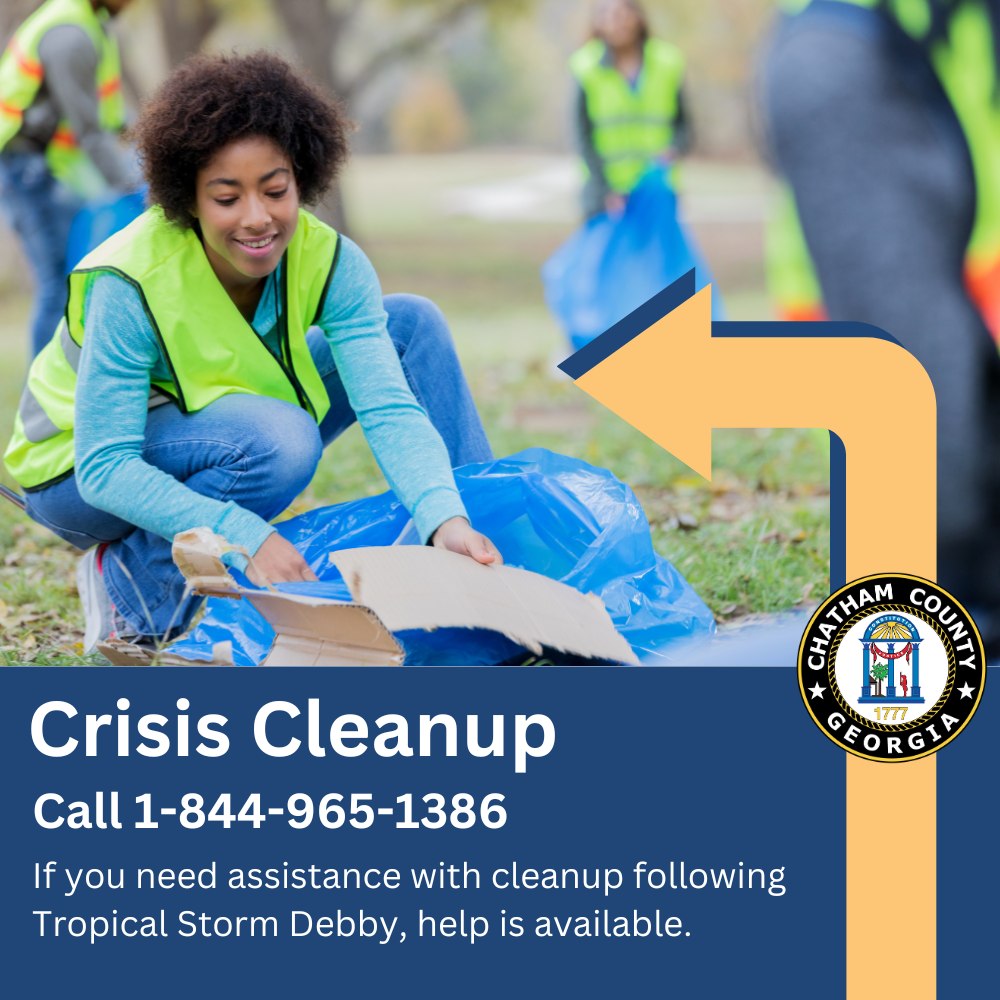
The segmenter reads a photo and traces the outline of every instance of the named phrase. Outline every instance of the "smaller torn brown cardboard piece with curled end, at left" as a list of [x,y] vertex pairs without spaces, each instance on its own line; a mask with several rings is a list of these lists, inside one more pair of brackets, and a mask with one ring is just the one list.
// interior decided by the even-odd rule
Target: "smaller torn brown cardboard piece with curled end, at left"
[[[274,629],[274,643],[261,666],[399,666],[403,647],[370,608],[325,597],[241,587],[222,556],[234,551],[208,528],[174,537],[173,557],[199,594],[245,598]],[[107,655],[107,653],[105,653]]]

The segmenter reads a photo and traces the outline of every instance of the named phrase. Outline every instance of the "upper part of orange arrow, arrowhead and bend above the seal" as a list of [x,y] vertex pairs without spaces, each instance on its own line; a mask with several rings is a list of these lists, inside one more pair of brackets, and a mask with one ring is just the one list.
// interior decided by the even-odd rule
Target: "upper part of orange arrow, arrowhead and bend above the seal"
[[[788,324],[738,323],[750,330]],[[825,427],[847,451],[847,579],[936,571],[935,404],[913,355],[874,336],[712,336],[710,288],[576,379],[599,403],[711,479],[712,429]],[[891,476],[898,496],[872,502]]]

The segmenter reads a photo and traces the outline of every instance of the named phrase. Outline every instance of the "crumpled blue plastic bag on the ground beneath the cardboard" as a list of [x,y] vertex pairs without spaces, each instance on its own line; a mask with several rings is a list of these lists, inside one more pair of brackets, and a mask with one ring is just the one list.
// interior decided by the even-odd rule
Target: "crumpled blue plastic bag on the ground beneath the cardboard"
[[[635,494],[610,472],[532,448],[464,466],[456,470],[455,480],[473,523],[496,543],[509,565],[597,594],[641,662],[658,662],[675,640],[714,629],[705,603],[653,551],[649,523]],[[320,578],[319,583],[287,589],[344,601],[351,596],[327,558],[330,552],[419,544],[409,514],[392,493],[310,511],[282,522],[278,530]],[[518,662],[526,655],[509,639],[485,630],[406,631],[396,638],[406,663],[413,665]],[[247,601],[212,598],[200,624],[170,652],[210,660],[213,644],[228,640],[234,662],[253,666],[267,655],[273,639],[270,626]]]

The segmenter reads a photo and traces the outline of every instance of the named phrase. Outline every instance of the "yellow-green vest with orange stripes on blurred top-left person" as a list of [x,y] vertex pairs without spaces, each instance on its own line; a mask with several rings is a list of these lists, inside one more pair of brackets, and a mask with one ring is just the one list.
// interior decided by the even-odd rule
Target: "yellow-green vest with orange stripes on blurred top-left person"
[[[31,107],[45,78],[38,47],[53,28],[73,24],[82,28],[98,53],[97,97],[101,128],[120,132],[125,126],[118,43],[105,31],[107,15],[96,12],[90,0],[47,0],[14,32],[0,56],[0,150],[17,135],[24,112]],[[45,151],[52,173],[82,197],[99,193],[103,181],[80,149],[66,121],[59,122]]]

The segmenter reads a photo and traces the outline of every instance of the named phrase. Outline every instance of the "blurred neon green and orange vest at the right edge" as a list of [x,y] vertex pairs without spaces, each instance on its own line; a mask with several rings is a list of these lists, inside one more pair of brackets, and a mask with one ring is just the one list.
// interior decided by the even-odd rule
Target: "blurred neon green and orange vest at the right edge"
[[[810,0],[781,0],[798,13]],[[878,0],[838,0],[875,9]],[[928,0],[891,0],[883,9],[920,41],[931,25]],[[966,0],[951,15],[945,37],[930,47],[930,58],[962,126],[976,180],[976,218],[966,256],[966,282],[994,335],[1000,335],[1000,89],[998,53],[986,4]],[[780,226],[797,226],[797,220]],[[786,234],[787,235],[787,234]],[[790,238],[794,238],[794,235]],[[780,244],[780,235],[774,239]],[[801,265],[795,265],[801,268]],[[808,266],[808,265],[807,265]],[[776,274],[775,284],[781,279]]]

